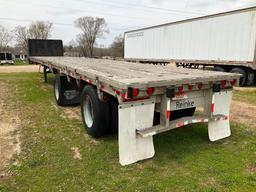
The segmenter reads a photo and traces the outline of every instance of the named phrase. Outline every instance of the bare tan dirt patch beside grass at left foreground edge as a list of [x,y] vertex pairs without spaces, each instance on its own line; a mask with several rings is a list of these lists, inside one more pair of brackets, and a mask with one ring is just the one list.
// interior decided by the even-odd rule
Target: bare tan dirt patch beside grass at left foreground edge
[[20,119],[15,104],[5,102],[9,94],[7,86],[0,82],[0,176],[3,176],[2,171],[10,158],[20,152]]

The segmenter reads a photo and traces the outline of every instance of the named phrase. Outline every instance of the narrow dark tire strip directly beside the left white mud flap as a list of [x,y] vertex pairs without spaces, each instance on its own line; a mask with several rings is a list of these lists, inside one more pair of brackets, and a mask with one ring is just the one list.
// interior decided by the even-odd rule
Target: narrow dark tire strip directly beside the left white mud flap
[[108,104],[110,114],[109,133],[113,134],[118,132],[118,100],[111,97]]

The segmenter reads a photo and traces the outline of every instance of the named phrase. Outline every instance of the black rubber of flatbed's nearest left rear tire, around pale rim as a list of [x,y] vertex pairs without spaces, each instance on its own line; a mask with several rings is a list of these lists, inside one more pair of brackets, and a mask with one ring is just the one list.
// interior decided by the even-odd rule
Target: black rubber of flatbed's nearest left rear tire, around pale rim
[[[85,100],[88,98],[92,104],[91,107],[93,113],[93,122],[91,127],[87,125],[84,114]],[[98,138],[104,136],[107,133],[110,119],[109,106],[108,103],[104,103],[99,100],[96,88],[91,85],[86,85],[83,88],[81,95],[81,114],[86,132],[90,136]]]

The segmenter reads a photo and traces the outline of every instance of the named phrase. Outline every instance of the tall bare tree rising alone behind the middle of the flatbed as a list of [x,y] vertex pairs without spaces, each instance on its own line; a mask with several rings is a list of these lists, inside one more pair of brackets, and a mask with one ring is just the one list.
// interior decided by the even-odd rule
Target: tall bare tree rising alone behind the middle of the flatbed
[[75,21],[75,26],[82,30],[77,41],[83,54],[93,57],[93,49],[96,39],[108,33],[107,24],[104,18],[81,17]]

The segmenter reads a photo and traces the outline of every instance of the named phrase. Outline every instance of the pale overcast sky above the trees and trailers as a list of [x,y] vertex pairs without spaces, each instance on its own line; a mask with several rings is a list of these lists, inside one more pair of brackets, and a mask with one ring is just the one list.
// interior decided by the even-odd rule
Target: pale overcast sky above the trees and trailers
[[80,33],[74,26],[77,18],[103,17],[109,33],[97,46],[108,47],[125,31],[250,6],[256,0],[0,0],[0,25],[12,31],[32,21],[49,21],[51,38],[69,45]]

